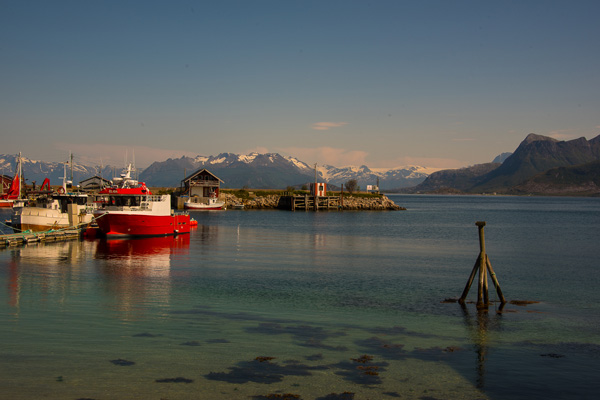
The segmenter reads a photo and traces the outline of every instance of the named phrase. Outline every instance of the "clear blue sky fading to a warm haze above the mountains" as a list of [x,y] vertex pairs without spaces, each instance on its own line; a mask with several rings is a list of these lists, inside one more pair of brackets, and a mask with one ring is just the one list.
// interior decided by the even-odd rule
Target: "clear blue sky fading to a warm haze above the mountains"
[[0,153],[458,168],[600,134],[599,1],[0,0]]

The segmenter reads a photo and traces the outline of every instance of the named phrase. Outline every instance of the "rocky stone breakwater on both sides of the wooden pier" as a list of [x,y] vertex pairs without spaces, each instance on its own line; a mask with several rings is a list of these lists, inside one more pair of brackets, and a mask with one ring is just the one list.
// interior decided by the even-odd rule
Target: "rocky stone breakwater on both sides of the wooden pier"
[[[280,206],[279,195],[256,196],[251,199],[240,199],[231,193],[222,193],[228,208],[244,205],[246,209],[278,209]],[[353,197],[344,196],[343,210],[406,210],[400,207],[387,196],[381,197]]]

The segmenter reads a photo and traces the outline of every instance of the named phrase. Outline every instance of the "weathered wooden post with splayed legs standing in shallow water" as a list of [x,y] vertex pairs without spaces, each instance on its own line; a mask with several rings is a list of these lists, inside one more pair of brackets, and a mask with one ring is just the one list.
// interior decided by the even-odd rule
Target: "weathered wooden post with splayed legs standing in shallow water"
[[477,257],[477,261],[475,261],[475,265],[473,266],[473,270],[471,271],[471,275],[469,276],[469,280],[465,286],[465,290],[463,290],[459,303],[464,304],[465,299],[467,298],[467,294],[469,294],[469,289],[471,289],[471,285],[473,284],[473,280],[475,279],[475,275],[477,271],[479,271],[479,284],[477,285],[477,308],[485,308],[490,304],[489,295],[488,295],[488,281],[487,281],[487,273],[489,271],[490,276],[492,278],[492,283],[496,287],[496,293],[500,298],[500,302],[502,304],[506,303],[506,299],[502,294],[502,290],[500,289],[500,283],[498,282],[498,278],[494,273],[494,269],[492,268],[492,264],[485,253],[485,236],[483,233],[483,227],[485,226],[485,221],[477,221],[475,225],[479,228],[479,256]]

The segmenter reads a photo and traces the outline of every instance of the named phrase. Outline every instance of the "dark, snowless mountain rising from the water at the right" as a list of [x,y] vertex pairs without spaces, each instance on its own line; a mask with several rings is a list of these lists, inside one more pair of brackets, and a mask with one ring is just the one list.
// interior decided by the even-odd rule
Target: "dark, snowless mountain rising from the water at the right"
[[559,141],[529,134],[502,163],[432,173],[406,192],[600,194],[600,136]]

